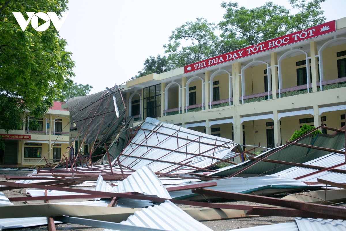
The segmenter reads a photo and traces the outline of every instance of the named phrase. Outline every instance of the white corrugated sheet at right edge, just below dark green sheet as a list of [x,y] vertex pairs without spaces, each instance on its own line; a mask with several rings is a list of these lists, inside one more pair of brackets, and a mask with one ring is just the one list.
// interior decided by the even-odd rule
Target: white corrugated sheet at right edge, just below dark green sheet
[[[340,151],[344,151],[345,149],[342,149]],[[330,153],[323,157],[317,158],[315,160],[308,161],[304,164],[306,165],[314,165],[314,166],[320,166],[320,167],[331,167],[335,166],[341,163],[345,163],[345,155],[338,154],[338,153]],[[346,165],[342,165],[337,167],[336,169],[342,169],[346,170]],[[281,176],[286,178],[296,178],[300,176],[304,176],[313,172],[319,171],[318,169],[311,169],[311,168],[302,168],[302,167],[292,167],[289,169],[286,169],[284,171],[278,172],[276,174],[273,174],[272,176]],[[300,181],[309,181],[309,182],[317,182],[317,178],[329,180],[333,182],[338,183],[346,183],[346,174],[339,173],[339,172],[331,172],[331,171],[324,171],[319,172],[317,174],[307,176],[304,178],[299,179]]]

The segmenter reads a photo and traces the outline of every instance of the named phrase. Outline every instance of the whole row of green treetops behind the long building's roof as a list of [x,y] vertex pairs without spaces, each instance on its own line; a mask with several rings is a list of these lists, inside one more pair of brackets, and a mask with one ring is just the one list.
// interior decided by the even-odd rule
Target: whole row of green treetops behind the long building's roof
[[[247,9],[237,2],[222,2],[225,9],[223,20],[218,24],[207,19],[197,18],[173,30],[169,43],[164,44],[168,62],[165,68],[171,70],[194,62],[254,45],[293,31],[324,23],[324,11],[320,3],[326,0],[289,0],[293,9],[299,12],[290,14],[283,6],[266,2],[261,7]],[[218,36],[217,31],[221,34]],[[151,57],[151,56],[150,56]],[[149,60],[151,60],[150,58]],[[147,59],[148,60],[148,59]],[[147,62],[146,60],[146,62]],[[138,78],[156,72],[146,68],[138,72]]]

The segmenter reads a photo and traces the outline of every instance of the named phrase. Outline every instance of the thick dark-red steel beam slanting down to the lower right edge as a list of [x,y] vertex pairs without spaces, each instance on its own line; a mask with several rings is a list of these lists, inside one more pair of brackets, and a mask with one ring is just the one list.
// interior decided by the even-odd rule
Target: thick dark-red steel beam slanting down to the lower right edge
[[282,206],[287,208],[295,208],[308,212],[319,211],[322,214],[328,214],[332,216],[343,216],[346,217],[346,208],[305,203],[300,201],[291,201],[279,198],[265,197],[265,196],[255,196],[243,193],[230,193],[211,189],[193,189],[192,193],[198,193],[202,195],[217,196],[226,199],[232,199],[237,201],[249,201],[256,203],[263,203],[268,205]]

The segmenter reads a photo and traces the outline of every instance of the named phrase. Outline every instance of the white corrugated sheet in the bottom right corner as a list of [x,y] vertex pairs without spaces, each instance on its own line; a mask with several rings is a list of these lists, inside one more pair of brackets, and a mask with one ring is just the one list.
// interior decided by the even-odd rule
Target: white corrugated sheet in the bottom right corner
[[333,219],[295,218],[299,231],[346,231],[346,221]]

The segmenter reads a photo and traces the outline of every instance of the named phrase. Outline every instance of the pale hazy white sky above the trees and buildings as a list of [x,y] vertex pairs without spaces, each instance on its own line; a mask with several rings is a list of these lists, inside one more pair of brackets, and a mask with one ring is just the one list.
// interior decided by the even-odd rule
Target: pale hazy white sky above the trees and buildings
[[[268,0],[238,0],[246,8],[260,7]],[[59,34],[73,53],[73,81],[93,86],[90,94],[120,85],[138,71],[149,55],[164,55],[163,44],[176,27],[203,17],[219,23],[225,13],[222,0],[70,0],[69,15]],[[286,0],[274,4],[291,9]],[[326,21],[346,17],[345,0],[321,3]],[[291,10],[294,14],[297,10]]]

